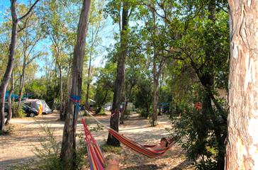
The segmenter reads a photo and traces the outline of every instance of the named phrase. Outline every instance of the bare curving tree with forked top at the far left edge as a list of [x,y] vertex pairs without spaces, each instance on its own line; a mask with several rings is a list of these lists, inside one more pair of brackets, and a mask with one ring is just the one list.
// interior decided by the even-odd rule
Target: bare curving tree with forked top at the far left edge
[[[4,73],[4,77],[1,81],[1,89],[0,89],[0,130],[4,130],[4,101],[6,95],[6,88],[8,85],[8,81],[11,78],[11,72],[13,71],[13,60],[16,50],[16,41],[17,41],[17,28],[18,22],[26,18],[30,12],[33,10],[34,6],[40,0],[36,0],[32,6],[30,6],[29,10],[20,18],[18,18],[16,13],[16,0],[11,0],[11,21],[12,21],[12,28],[11,28],[11,43],[9,46],[9,60],[6,67],[6,72]],[[22,29],[22,28],[21,28]]]

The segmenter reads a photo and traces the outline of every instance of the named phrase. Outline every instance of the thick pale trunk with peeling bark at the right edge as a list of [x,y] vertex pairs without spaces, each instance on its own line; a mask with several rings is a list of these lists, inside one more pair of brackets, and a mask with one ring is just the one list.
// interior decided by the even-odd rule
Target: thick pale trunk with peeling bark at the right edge
[[229,1],[230,77],[226,169],[258,169],[258,3]]

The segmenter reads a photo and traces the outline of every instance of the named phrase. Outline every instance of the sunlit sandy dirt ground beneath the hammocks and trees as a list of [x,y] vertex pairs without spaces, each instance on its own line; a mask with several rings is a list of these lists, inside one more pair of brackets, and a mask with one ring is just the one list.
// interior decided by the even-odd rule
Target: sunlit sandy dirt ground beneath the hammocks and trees
[[[96,116],[103,124],[109,125],[110,113],[108,115]],[[161,137],[168,135],[165,128],[171,128],[166,115],[158,117],[157,127],[150,127],[149,120],[140,118],[138,114],[130,115],[124,125],[120,125],[120,133],[131,139],[152,144],[159,142]],[[86,117],[90,127],[96,127],[96,122]],[[0,136],[0,169],[11,169],[15,164],[30,162],[35,159],[35,147],[40,146],[40,139],[44,139],[45,133],[42,126],[47,125],[54,132],[55,138],[62,141],[62,130],[64,123],[58,120],[58,113],[50,115],[39,115],[35,118],[13,118],[11,120],[13,131],[11,135]],[[79,120],[77,132],[83,132],[83,126]],[[103,144],[108,136],[106,130],[93,133],[99,144]],[[106,155],[108,153],[104,153]],[[120,169],[194,169],[191,162],[186,159],[181,147],[174,145],[164,157],[150,159],[133,152],[122,146],[122,152],[117,155]]]

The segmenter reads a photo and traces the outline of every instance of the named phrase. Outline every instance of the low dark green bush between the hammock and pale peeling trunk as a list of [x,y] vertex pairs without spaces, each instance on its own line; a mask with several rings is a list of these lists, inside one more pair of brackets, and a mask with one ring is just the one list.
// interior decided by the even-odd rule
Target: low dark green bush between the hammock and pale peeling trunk
[[[225,153],[225,144],[221,141],[225,141],[226,124],[221,114],[215,108],[210,113],[196,111],[188,104],[180,109],[181,117],[172,118],[174,127],[170,132],[180,137],[179,143],[195,161],[196,169],[218,169],[218,160],[224,159]],[[219,124],[214,123],[214,117]]]

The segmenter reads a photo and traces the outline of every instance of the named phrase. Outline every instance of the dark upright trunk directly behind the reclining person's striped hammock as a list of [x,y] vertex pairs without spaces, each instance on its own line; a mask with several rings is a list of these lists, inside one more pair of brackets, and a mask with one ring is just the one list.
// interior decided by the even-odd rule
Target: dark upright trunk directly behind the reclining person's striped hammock
[[[123,101],[125,94],[125,57],[127,52],[127,28],[128,28],[128,6],[123,3],[122,11],[122,30],[120,33],[120,55],[118,59],[118,66],[116,69],[116,84],[113,95],[112,113],[119,113],[120,104]],[[115,114],[110,119],[110,127],[118,132],[119,114]],[[120,146],[120,142],[116,140],[110,133],[108,133],[108,145]]]

